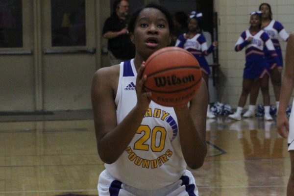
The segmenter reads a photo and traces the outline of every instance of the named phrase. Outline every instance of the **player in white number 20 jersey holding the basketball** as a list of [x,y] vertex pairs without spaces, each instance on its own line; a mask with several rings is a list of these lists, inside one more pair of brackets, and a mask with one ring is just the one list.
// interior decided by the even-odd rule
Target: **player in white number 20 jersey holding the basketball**
[[173,19],[158,4],[130,18],[135,58],[99,69],[92,83],[98,154],[105,163],[99,196],[198,196],[192,173],[207,153],[205,81],[187,104],[164,107],[145,92],[145,61],[171,43]]

